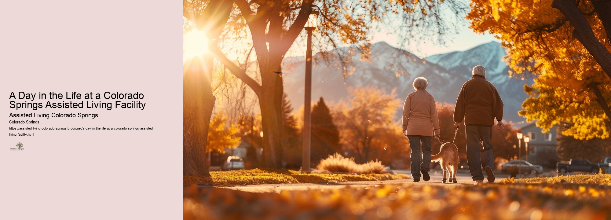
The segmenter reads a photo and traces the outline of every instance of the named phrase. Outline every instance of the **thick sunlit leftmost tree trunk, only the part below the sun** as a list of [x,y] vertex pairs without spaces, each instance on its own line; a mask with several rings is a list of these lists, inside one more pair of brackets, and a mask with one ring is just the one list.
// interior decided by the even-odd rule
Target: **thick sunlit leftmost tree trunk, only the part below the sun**
[[192,59],[183,73],[183,175],[195,177],[210,177],[206,141],[216,100],[211,86],[213,58],[203,60],[204,64]]

